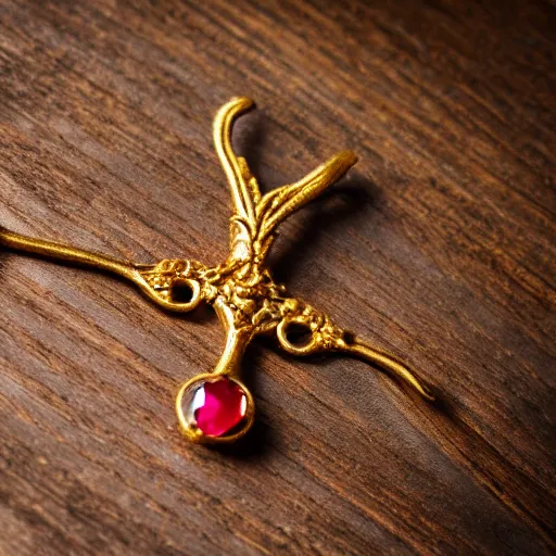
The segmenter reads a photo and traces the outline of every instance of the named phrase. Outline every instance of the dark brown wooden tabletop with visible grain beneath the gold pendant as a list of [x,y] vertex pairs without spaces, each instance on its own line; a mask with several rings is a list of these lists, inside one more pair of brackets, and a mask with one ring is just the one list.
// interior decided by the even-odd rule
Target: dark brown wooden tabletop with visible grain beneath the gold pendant
[[216,361],[216,319],[3,250],[0,553],[549,554],[555,15],[540,0],[1,2],[0,225],[224,260],[211,121],[252,97],[236,149],[265,190],[339,149],[361,159],[283,226],[277,278],[439,402],[256,343],[249,441],[188,445],[174,396]]

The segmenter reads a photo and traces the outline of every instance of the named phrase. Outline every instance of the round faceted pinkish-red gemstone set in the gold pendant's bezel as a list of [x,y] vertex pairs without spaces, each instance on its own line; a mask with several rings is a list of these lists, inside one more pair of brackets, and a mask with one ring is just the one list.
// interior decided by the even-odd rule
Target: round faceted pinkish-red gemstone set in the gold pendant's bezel
[[226,377],[204,382],[194,393],[191,409],[199,429],[208,437],[222,437],[245,416],[243,390]]

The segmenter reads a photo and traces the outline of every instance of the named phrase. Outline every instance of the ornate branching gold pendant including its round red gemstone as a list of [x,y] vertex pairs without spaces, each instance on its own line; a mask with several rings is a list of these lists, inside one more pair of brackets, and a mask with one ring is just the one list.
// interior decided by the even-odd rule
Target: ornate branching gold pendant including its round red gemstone
[[[232,99],[214,119],[216,153],[233,202],[225,263],[208,267],[192,260],[164,260],[142,265],[2,228],[0,243],[123,276],[165,309],[187,313],[201,302],[214,307],[226,331],[224,351],[213,371],[188,380],[176,400],[181,430],[192,442],[232,442],[253,425],[255,407],[241,381],[241,361],[258,334],[276,334],[279,345],[292,355],[341,352],[363,358],[433,400],[403,362],[338,327],[304,301],[288,296],[285,286],[273,280],[265,264],[277,227],[340,179],[357,159],[351,151],[339,152],[295,184],[262,195],[245,159],[233,154],[230,141],[233,121],[253,106],[250,99]],[[305,337],[301,342],[295,339],[300,332]]]

